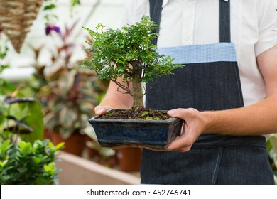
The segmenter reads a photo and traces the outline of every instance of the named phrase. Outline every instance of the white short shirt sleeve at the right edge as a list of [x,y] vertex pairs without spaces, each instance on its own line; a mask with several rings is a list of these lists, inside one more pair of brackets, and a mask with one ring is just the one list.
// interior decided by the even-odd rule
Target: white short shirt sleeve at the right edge
[[277,1],[257,1],[259,40],[255,44],[258,56],[277,44]]

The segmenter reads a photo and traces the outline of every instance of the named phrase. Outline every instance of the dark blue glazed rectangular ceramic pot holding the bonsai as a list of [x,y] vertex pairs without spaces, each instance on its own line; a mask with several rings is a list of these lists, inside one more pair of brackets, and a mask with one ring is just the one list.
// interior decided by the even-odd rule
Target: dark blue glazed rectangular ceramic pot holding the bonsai
[[98,142],[103,147],[146,146],[165,149],[176,136],[180,135],[182,119],[89,119]]

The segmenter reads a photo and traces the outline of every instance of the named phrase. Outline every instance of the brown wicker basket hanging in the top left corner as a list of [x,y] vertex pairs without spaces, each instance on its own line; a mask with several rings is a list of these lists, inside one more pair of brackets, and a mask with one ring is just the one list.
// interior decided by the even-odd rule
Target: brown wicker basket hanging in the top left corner
[[0,26],[16,52],[20,53],[21,46],[42,4],[43,0],[0,1]]

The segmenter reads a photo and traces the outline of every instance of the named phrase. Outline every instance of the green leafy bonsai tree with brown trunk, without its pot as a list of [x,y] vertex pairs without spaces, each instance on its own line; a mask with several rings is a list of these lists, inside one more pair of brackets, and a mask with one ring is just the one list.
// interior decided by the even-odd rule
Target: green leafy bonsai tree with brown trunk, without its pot
[[[169,75],[181,65],[173,65],[173,59],[160,55],[152,40],[158,37],[158,26],[148,16],[139,23],[123,26],[121,29],[107,29],[99,23],[96,31],[85,28],[92,37],[87,42],[90,55],[85,62],[86,68],[94,70],[100,79],[115,82],[118,91],[134,98],[133,108],[143,108],[141,83],[153,77]],[[119,82],[119,78],[123,83]],[[132,85],[132,89],[131,89]]]

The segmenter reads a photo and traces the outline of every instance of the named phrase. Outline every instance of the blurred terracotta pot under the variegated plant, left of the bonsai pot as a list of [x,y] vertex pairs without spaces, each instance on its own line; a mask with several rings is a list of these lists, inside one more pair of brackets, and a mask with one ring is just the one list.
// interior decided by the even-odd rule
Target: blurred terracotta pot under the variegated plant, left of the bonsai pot
[[72,134],[68,139],[63,139],[60,134],[53,133],[51,139],[55,145],[65,142],[65,148],[62,150],[75,156],[82,156],[85,149],[85,136],[79,133]]

